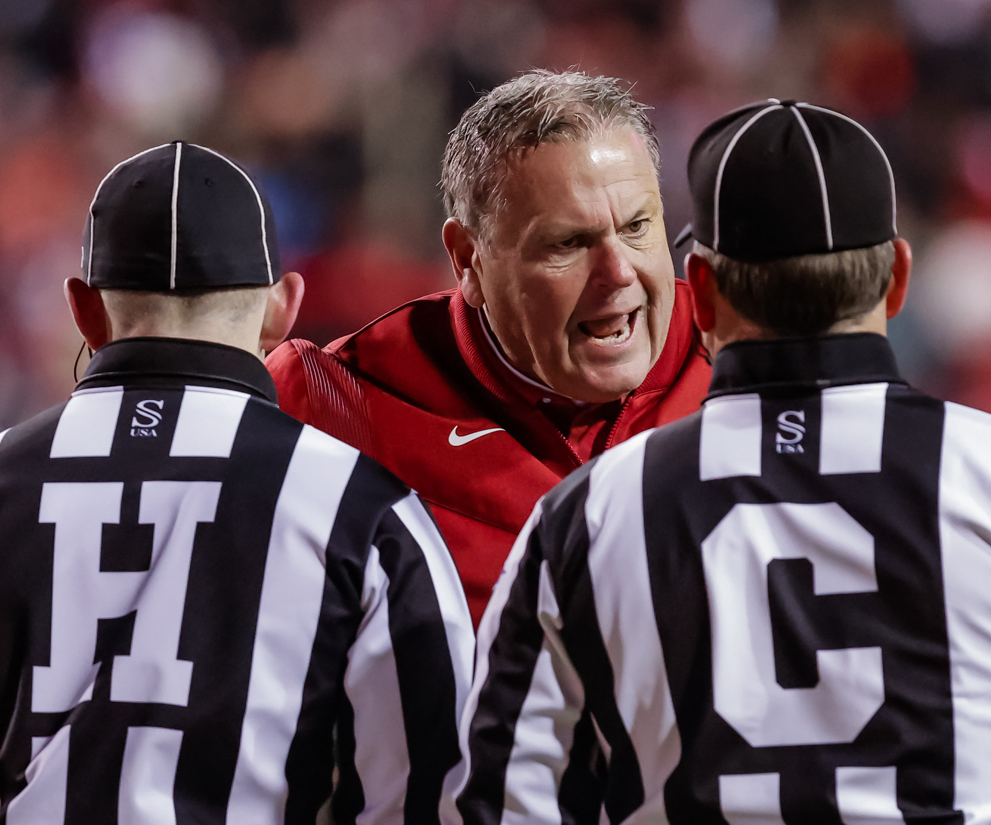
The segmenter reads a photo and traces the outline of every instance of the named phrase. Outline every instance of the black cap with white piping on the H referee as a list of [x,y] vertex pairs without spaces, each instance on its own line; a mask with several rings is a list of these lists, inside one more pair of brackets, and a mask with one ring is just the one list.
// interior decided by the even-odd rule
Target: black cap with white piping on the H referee
[[275,222],[261,187],[219,152],[175,141],[117,164],[83,236],[86,283],[168,292],[273,284]]

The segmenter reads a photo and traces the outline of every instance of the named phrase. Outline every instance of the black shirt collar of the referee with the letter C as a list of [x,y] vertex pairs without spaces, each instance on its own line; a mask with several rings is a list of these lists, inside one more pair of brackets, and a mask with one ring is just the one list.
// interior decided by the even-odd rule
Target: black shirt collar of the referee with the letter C
[[736,341],[716,356],[708,398],[779,388],[907,383],[888,339],[872,332]]

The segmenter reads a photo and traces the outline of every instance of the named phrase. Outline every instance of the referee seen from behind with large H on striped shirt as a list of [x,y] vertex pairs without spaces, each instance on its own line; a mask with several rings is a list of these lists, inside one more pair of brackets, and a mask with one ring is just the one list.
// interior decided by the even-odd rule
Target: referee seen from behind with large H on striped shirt
[[85,377],[0,434],[0,822],[437,822],[467,604],[416,496],[278,410],[302,281],[255,183],[136,155],[83,270]]

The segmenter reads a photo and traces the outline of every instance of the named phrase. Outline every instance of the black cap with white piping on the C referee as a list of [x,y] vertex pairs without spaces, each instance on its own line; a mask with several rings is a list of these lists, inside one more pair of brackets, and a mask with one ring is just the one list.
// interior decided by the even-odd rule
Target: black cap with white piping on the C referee
[[739,261],[860,249],[897,234],[884,150],[846,115],[793,100],[736,109],[688,156],[689,236]]

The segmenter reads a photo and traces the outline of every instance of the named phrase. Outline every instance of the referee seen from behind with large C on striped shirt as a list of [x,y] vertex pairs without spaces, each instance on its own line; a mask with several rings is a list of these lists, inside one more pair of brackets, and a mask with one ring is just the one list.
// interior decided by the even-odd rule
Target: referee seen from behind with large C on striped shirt
[[[465,823],[991,822],[991,416],[899,376],[888,161],[737,110],[689,158],[702,410],[539,503],[479,631]],[[585,801],[583,801],[585,800]]]

